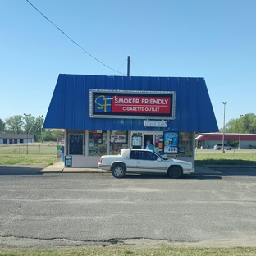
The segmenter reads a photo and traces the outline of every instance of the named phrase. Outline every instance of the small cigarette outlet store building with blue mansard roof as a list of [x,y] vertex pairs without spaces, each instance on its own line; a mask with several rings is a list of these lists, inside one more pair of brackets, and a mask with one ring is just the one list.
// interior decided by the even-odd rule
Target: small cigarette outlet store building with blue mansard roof
[[43,128],[65,130],[66,167],[121,148],[194,162],[195,134],[218,131],[203,78],[59,75]]

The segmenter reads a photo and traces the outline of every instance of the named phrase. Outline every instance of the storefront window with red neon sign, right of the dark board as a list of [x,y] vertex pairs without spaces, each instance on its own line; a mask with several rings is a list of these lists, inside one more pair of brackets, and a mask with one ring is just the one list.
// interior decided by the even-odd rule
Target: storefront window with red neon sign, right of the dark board
[[107,130],[89,130],[89,156],[107,154]]

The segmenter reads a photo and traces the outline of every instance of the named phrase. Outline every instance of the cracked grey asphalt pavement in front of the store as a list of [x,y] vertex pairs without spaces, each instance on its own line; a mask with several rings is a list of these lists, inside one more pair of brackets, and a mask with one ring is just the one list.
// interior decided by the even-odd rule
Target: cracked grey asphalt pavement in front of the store
[[0,166],[0,247],[256,245],[256,169],[181,180]]

